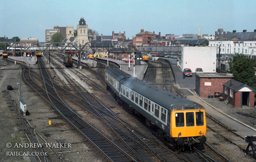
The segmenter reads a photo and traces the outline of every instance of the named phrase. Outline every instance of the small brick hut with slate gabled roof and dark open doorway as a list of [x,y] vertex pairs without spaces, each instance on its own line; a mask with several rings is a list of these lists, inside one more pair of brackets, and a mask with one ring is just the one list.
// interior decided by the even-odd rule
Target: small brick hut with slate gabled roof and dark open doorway
[[255,90],[245,83],[231,79],[223,84],[223,92],[224,99],[234,107],[254,107]]

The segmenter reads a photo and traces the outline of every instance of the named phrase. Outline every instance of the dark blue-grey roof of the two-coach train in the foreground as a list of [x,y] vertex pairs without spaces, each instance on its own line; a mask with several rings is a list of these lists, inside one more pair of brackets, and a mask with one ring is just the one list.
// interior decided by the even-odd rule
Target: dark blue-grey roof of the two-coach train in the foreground
[[148,84],[144,81],[140,81],[131,75],[116,69],[109,69],[107,72],[111,72],[111,75],[118,81],[123,79],[122,83],[130,89],[146,96],[151,101],[160,104],[171,110],[183,110],[183,109],[204,109],[200,104],[190,101],[184,97],[177,96],[169,91],[158,88],[152,84]]

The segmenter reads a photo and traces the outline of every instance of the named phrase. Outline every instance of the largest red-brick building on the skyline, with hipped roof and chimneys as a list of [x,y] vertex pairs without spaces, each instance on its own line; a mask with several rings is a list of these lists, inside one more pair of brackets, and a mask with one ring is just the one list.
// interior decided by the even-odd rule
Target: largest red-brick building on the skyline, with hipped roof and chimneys
[[155,32],[144,32],[144,29],[140,29],[140,33],[136,34],[136,36],[133,37],[132,40],[134,46],[142,46],[143,44],[149,44],[149,42],[155,38]]

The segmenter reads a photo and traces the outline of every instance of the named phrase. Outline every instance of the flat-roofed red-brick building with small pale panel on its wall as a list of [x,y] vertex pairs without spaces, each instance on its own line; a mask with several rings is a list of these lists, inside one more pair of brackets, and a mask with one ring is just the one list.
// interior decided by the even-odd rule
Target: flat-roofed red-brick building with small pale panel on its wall
[[200,97],[208,97],[209,94],[214,95],[215,91],[224,93],[223,84],[233,78],[233,74],[196,74],[196,93]]

